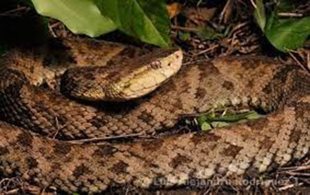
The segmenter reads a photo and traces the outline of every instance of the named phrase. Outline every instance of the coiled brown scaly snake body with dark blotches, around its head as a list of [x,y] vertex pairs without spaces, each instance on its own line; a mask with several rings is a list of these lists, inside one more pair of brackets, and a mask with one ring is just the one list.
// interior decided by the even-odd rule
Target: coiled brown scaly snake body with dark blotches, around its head
[[[151,54],[164,59],[149,63],[156,66],[154,70],[167,64],[176,65],[174,70],[178,70],[182,58],[179,52],[168,57],[167,63],[167,54],[156,51],[76,39],[6,54],[0,72],[1,175],[19,176],[25,183],[71,193],[103,192],[125,185],[156,189],[186,185],[191,179],[211,180],[218,175],[236,182],[236,178],[253,178],[308,154],[309,74],[267,57],[222,57],[183,65],[158,89],[152,86],[154,92],[125,102],[72,101],[58,92],[66,93],[63,87],[71,86],[73,96],[87,99],[87,92],[77,91],[96,85],[93,81],[103,79],[96,75],[106,71],[96,70],[92,64],[117,67],[123,59],[136,63],[136,59]],[[112,69],[103,77],[111,83],[122,83],[125,74],[139,69],[134,63],[128,70]],[[58,81],[51,79],[58,76],[54,70],[64,72],[72,65],[83,64],[90,64],[93,70],[86,74],[86,84],[79,90],[74,90],[76,84],[68,84],[83,80],[80,74],[87,68],[79,67],[72,73],[78,79],[64,79],[65,84],[57,90]],[[49,69],[50,65],[56,68]],[[43,82],[56,92],[32,86]],[[100,88],[95,91],[91,94],[103,93]],[[114,87],[105,91],[107,100],[117,93]],[[267,115],[207,133],[156,136],[174,127],[182,114],[206,112],[222,105],[251,107]],[[156,138],[99,145],[68,142],[123,134]]]

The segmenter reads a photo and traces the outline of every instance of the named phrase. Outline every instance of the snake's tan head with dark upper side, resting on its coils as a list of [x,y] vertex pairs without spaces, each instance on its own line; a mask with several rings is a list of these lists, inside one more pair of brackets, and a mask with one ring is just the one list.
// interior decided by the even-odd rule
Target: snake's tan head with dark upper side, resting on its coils
[[136,59],[125,59],[112,68],[73,68],[61,81],[64,94],[92,101],[127,101],[149,94],[182,65],[182,50],[154,50]]

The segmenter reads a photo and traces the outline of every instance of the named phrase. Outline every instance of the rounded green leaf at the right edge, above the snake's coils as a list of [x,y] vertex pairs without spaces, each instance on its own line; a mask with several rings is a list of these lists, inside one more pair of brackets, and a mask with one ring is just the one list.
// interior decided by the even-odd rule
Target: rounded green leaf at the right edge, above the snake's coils
[[310,35],[310,17],[278,19],[271,14],[265,35],[269,42],[282,52],[302,47]]

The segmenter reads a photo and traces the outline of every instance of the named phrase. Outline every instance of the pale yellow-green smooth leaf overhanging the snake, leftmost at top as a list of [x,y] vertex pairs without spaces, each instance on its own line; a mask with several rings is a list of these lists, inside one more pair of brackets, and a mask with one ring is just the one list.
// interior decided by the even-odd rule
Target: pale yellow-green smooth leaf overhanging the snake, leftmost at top
[[43,16],[62,21],[72,32],[97,37],[116,29],[92,0],[32,0]]

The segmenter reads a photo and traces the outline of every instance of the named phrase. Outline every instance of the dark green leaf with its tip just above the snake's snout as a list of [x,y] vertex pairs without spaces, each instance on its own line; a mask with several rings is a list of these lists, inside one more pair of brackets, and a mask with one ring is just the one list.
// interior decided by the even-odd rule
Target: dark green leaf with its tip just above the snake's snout
[[118,29],[142,41],[167,47],[170,20],[165,0],[96,0]]

